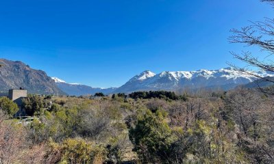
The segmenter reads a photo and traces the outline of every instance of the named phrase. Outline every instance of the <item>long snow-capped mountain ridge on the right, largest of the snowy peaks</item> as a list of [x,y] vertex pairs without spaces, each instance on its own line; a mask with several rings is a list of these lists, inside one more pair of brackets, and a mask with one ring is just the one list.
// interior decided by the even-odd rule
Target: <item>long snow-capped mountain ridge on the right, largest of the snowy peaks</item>
[[[273,77],[273,74],[268,74],[267,72],[257,72],[257,74],[262,77]],[[244,85],[256,79],[256,77],[250,74],[243,74],[234,68],[165,71],[159,74],[146,70],[130,79],[115,92],[130,93],[149,90],[179,90],[182,88],[198,89],[202,87],[229,90],[237,85]]]

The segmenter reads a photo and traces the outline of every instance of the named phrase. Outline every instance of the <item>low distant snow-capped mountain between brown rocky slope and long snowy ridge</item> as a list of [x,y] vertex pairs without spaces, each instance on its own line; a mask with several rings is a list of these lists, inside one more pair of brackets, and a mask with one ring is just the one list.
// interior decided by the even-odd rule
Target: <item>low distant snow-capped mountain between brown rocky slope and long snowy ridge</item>
[[60,90],[66,92],[71,96],[80,96],[80,95],[88,95],[95,94],[97,92],[103,92],[103,94],[110,94],[116,90],[115,87],[110,88],[101,88],[101,87],[90,87],[88,85],[82,85],[79,83],[66,83],[66,81],[62,79],[58,79],[57,77],[51,77],[55,81],[55,84],[58,86]]

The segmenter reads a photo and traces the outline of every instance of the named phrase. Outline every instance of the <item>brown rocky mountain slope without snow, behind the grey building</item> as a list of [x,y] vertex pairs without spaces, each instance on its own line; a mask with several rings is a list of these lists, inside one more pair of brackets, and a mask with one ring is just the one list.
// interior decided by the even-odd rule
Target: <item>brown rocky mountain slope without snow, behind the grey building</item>
[[21,61],[0,59],[0,92],[23,87],[28,93],[64,95],[42,70],[34,70]]

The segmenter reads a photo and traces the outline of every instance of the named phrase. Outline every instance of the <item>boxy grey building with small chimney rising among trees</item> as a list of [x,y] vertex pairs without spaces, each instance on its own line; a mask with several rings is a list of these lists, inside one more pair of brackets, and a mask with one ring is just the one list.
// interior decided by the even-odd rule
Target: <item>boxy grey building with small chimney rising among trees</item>
[[27,97],[27,90],[9,90],[8,98],[18,105],[19,110],[14,117],[25,116],[25,109],[23,108],[23,98]]

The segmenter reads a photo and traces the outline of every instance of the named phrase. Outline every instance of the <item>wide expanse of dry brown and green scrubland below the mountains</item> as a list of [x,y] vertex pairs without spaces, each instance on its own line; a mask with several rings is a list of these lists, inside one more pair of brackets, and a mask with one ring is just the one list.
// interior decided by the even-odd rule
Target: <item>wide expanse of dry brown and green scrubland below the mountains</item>
[[11,119],[2,107],[0,163],[272,163],[274,158],[273,97],[256,90],[178,100],[29,96],[25,106],[36,117],[29,124]]

